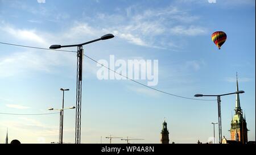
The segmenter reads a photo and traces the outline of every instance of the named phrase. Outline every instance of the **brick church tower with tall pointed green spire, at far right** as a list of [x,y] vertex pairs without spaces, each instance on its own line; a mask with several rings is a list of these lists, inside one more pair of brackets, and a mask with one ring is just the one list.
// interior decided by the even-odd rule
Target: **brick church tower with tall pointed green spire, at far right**
[[[237,79],[237,91],[238,91],[238,79]],[[243,118],[243,112],[240,106],[239,94],[236,94],[236,107],[234,109],[236,114],[232,118],[230,135],[231,140],[240,141],[242,144],[248,142],[247,139],[247,124],[245,117]]]

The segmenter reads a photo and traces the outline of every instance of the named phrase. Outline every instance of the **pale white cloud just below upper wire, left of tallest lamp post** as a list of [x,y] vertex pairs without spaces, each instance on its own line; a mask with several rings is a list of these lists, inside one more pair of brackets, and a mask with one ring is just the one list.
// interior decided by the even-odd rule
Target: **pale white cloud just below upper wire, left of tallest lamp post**
[[24,51],[0,57],[0,78],[26,75],[30,72],[53,73],[56,66],[68,66],[75,62],[73,53]]

